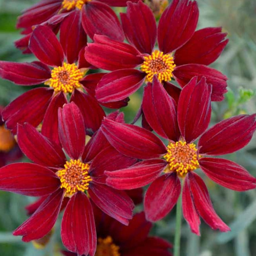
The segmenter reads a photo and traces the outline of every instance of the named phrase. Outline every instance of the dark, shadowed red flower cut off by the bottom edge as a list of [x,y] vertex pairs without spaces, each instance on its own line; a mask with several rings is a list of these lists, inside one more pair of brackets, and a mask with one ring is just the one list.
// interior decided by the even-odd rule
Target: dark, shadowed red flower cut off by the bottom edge
[[[93,207],[97,230],[95,256],[171,256],[171,244],[160,237],[148,236],[152,223],[145,219],[144,212],[133,216],[129,226],[124,226]],[[62,252],[65,256],[75,253]]]

